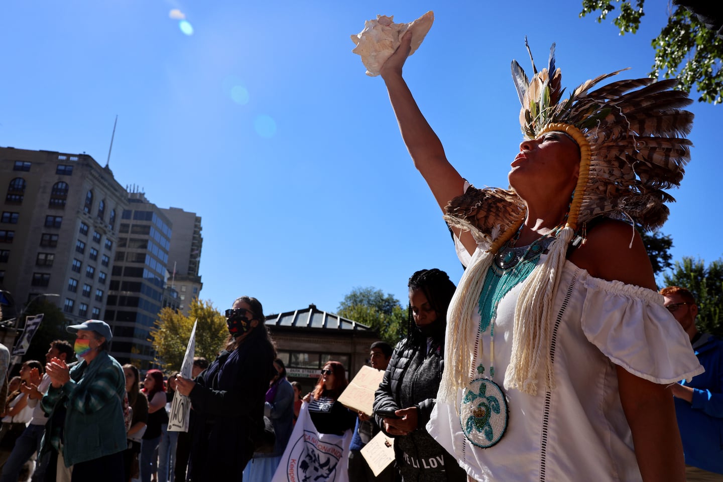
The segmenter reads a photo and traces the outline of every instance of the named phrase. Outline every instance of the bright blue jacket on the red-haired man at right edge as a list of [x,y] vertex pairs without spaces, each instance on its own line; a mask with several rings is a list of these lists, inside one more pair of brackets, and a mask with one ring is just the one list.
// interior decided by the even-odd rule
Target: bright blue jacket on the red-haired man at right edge
[[685,463],[723,473],[723,340],[704,333],[693,344],[705,372],[693,376],[693,403],[675,399]]

